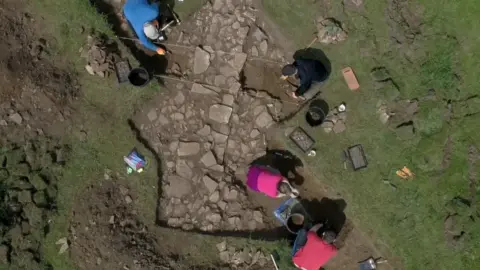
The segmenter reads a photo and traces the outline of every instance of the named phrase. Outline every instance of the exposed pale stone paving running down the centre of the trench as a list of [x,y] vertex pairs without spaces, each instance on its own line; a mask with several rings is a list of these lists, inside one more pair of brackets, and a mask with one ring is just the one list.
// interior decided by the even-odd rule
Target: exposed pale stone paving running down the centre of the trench
[[[250,57],[283,61],[279,49],[256,25],[251,1],[216,0],[169,33],[170,91],[135,116],[142,135],[164,160],[159,217],[172,227],[203,231],[268,228],[265,213],[252,205],[238,177],[265,154],[267,130],[282,110],[266,93],[242,89]],[[236,176],[237,175],[237,176]]]

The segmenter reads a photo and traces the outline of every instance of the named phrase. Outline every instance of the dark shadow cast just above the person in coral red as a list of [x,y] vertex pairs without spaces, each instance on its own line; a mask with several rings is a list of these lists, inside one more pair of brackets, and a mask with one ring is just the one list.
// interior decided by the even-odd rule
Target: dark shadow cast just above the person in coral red
[[313,219],[313,223],[326,224],[325,229],[331,229],[337,234],[342,231],[347,217],[344,213],[347,203],[343,199],[332,200],[329,198],[300,199],[301,204]]

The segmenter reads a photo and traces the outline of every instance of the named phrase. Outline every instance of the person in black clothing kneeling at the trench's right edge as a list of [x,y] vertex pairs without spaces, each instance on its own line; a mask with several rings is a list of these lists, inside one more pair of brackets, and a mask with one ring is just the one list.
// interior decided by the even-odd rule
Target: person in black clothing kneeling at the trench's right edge
[[281,79],[287,80],[289,77],[300,80],[300,86],[295,85],[297,90],[289,91],[289,95],[294,99],[308,100],[320,92],[323,82],[328,78],[328,71],[320,61],[298,59],[283,67]]

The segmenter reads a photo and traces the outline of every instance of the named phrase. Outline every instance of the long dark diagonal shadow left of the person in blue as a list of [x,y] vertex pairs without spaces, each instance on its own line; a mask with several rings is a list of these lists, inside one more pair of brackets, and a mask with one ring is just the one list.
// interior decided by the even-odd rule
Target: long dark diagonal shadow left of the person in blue
[[[105,0],[89,0],[98,13],[107,18],[112,30],[119,37],[121,42],[128,48],[133,57],[140,63],[140,66],[145,68],[150,76],[166,74],[168,67],[168,59],[166,56],[157,55],[153,51],[144,49],[138,41],[135,34],[131,31],[122,28],[124,23],[119,16],[117,16],[117,9]],[[174,2],[174,1],[173,1]],[[173,6],[172,6],[173,8]],[[130,24],[128,24],[130,26]],[[129,27],[132,29],[132,27]],[[158,44],[157,44],[158,45]],[[162,47],[162,45],[158,45]],[[156,78],[161,85],[164,85],[163,79]]]

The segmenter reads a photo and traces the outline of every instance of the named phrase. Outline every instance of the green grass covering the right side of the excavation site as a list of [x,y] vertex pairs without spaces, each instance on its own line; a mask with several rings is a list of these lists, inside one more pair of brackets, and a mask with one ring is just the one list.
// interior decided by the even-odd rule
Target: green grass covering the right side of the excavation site
[[[402,141],[383,126],[376,115],[376,104],[383,94],[374,90],[370,70],[385,66],[400,86],[400,98],[417,98],[434,88],[440,99],[461,99],[479,94],[480,49],[476,34],[480,8],[475,1],[420,1],[425,7],[423,38],[413,63],[402,56],[402,49],[389,40],[385,21],[387,1],[365,1],[362,14],[346,10],[340,2],[324,6],[318,1],[265,0],[270,17],[298,48],[311,39],[315,16],[335,17],[346,24],[346,42],[318,46],[332,62],[332,76],[322,98],[331,106],[347,103],[347,131],[325,134],[321,129],[305,127],[317,140],[319,155],[307,160],[323,184],[333,187],[347,201],[347,215],[372,239],[385,242],[404,269],[474,269],[480,263],[480,226],[468,226],[463,249],[446,247],[443,221],[446,205],[455,196],[469,197],[467,153],[470,144],[479,145],[478,117],[443,121],[445,103],[420,103],[416,116],[417,134]],[[360,92],[346,87],[340,70],[351,66],[361,84]],[[460,79],[457,79],[457,76]],[[478,108],[478,107],[477,107]],[[478,110],[477,110],[478,111]],[[288,125],[305,126],[303,113]],[[453,141],[451,165],[439,174],[447,137]],[[343,168],[341,152],[362,144],[369,167],[359,172]],[[285,141],[292,149],[293,145]],[[300,154],[300,153],[299,153]],[[408,166],[416,173],[411,181],[402,181],[395,171]],[[478,168],[477,163],[477,168]],[[396,191],[385,185],[389,180]],[[398,266],[399,268],[401,266]]]

